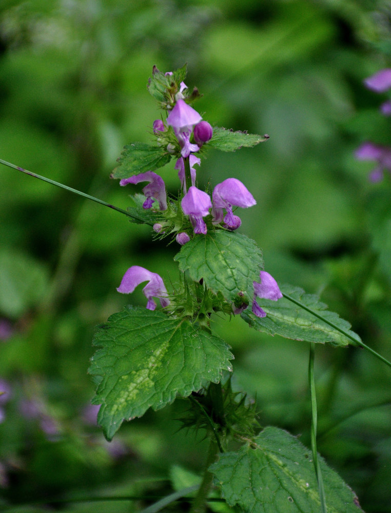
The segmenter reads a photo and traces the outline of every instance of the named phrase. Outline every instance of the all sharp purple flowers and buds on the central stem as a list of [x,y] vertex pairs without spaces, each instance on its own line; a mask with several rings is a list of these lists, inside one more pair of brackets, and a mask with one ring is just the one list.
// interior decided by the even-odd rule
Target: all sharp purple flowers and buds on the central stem
[[[166,75],[171,74],[171,72],[166,73]],[[169,127],[172,127],[177,139],[177,145],[171,142],[167,144],[167,151],[177,153],[178,155],[175,169],[178,170],[178,176],[183,190],[181,208],[183,213],[189,218],[193,233],[207,233],[207,225],[204,218],[210,214],[212,215],[211,222],[213,225],[223,223],[223,228],[236,230],[242,222],[238,215],[233,214],[232,208],[234,206],[248,208],[256,205],[256,201],[243,183],[236,178],[228,178],[216,185],[212,192],[212,199],[209,194],[196,187],[196,169],[194,169],[194,166],[200,166],[201,159],[195,153],[211,140],[213,129],[208,122],[202,120],[201,115],[196,110],[185,102],[183,95],[185,89],[187,89],[186,84],[181,82],[180,89],[175,96],[175,104],[167,116],[166,123],[162,120],[155,120],[153,122],[153,132],[155,135],[159,136],[167,132]],[[190,141],[191,135],[193,136],[194,143]],[[164,138],[161,138],[161,141],[162,140],[164,141]],[[185,159],[188,159],[191,177],[191,186],[189,186],[188,190],[186,184]],[[120,185],[125,186],[141,182],[148,182],[148,185],[143,188],[143,193],[146,196],[143,208],[151,208],[153,202],[157,201],[159,209],[163,211],[166,210],[167,194],[165,184],[161,176],[157,173],[147,171],[133,175],[121,180]],[[159,233],[164,228],[161,224],[155,224],[153,229]],[[175,239],[180,245],[184,245],[190,241],[190,235],[186,231],[180,231],[177,233]],[[167,299],[168,294],[162,278],[159,274],[150,272],[140,266],[132,266],[126,271],[121,285],[117,290],[121,293],[128,294],[133,292],[136,286],[145,281],[148,281],[147,285],[143,288],[143,293],[148,299],[147,309],[155,309],[156,303],[153,297],[159,298],[162,307],[168,306],[170,302]],[[253,285],[254,298],[252,311],[258,317],[265,317],[266,313],[258,305],[256,298],[277,301],[282,298],[282,293],[277,282],[266,271],[261,271],[260,283],[253,282]],[[232,307],[232,311],[233,313],[240,313],[241,310]]]

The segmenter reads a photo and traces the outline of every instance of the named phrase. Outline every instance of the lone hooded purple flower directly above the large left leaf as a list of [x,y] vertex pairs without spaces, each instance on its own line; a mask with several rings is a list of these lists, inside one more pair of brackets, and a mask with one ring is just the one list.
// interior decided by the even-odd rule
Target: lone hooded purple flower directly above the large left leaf
[[164,286],[162,278],[155,272],[150,272],[144,267],[133,265],[125,272],[121,285],[118,291],[122,294],[130,294],[133,290],[140,285],[140,283],[148,281],[147,285],[143,288],[143,294],[148,299],[147,309],[154,310],[156,303],[152,298],[159,298],[162,307],[170,304],[167,299],[167,290]]

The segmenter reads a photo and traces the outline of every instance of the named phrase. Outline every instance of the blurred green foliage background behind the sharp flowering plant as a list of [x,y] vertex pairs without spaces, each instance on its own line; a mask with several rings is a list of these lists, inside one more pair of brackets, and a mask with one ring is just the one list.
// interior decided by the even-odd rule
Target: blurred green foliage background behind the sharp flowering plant
[[[390,27],[391,4],[376,0],[3,0],[0,158],[125,209],[130,188],[109,174],[125,144],[151,141],[160,116],[146,88],[152,66],[187,63],[204,119],[270,135],[256,148],[210,151],[199,186],[238,177],[257,200],[240,212],[240,231],[263,248],[266,270],[321,294],[391,359],[391,181],[371,184],[373,163],[354,157],[365,140],[389,142],[390,121],[379,113],[386,94],[362,81],[390,65]],[[161,175],[175,194],[173,164]],[[175,281],[179,248],[5,166],[0,192],[0,385],[8,390],[0,510],[186,486],[183,470],[202,470],[205,443],[203,433],[177,432],[185,401],[147,412],[108,444],[88,409],[87,376],[94,326],[125,304],[145,304],[141,287],[116,292],[126,269],[143,265]],[[241,319],[214,321],[261,424],[309,445],[308,345]],[[359,349],[317,347],[316,376],[318,450],[365,511],[391,511],[391,370]],[[46,502],[45,510],[146,505]]]

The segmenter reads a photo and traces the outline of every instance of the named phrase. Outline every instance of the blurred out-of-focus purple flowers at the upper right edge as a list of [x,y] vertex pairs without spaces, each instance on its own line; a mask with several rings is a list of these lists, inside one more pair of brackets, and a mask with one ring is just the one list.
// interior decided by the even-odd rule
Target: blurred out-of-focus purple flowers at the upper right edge
[[[365,86],[377,93],[383,93],[391,89],[391,69],[383,69],[364,80]],[[380,106],[380,111],[385,116],[391,116],[391,101],[387,100]],[[391,148],[371,142],[363,143],[356,150],[356,158],[359,160],[377,161],[377,166],[369,174],[371,182],[380,182],[384,169],[391,172]]]

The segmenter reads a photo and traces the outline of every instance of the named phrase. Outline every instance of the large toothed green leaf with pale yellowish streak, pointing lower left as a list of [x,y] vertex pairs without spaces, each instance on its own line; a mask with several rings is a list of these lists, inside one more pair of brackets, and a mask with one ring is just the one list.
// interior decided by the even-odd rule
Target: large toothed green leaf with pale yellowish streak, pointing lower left
[[89,373],[97,385],[93,404],[108,440],[124,420],[141,417],[187,397],[232,370],[229,346],[219,337],[162,311],[127,306],[98,327]]

